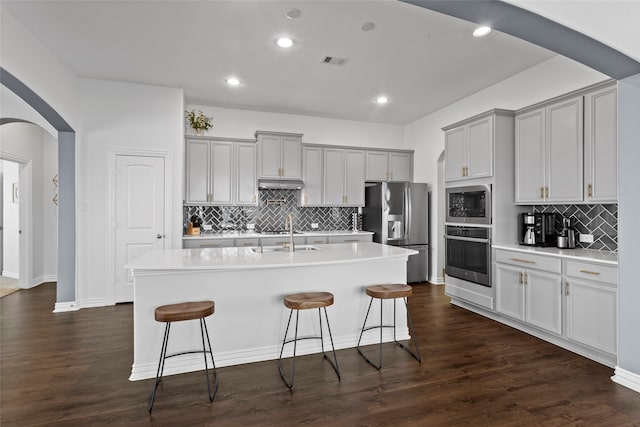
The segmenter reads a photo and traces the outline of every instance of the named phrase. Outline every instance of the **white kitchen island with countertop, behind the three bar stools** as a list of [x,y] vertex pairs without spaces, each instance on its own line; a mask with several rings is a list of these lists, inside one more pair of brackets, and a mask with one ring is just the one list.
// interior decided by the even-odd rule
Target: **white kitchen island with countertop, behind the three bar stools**
[[[129,379],[155,377],[164,324],[154,320],[154,309],[164,304],[215,301],[215,313],[207,318],[207,327],[218,367],[278,358],[289,316],[282,298],[291,293],[333,293],[335,302],[327,313],[336,349],[355,347],[369,303],[364,288],[406,283],[407,258],[417,252],[378,243],[314,248],[298,248],[293,253],[272,248],[264,248],[263,253],[257,248],[168,249],[135,259],[126,266],[134,278],[134,354]],[[368,325],[379,323],[376,303]],[[385,304],[385,324],[391,323],[392,307],[390,302]],[[401,301],[396,319],[397,339],[409,339]],[[318,334],[317,311],[302,311],[299,328],[299,336]],[[377,343],[379,337],[378,330],[365,333],[362,344]],[[384,330],[383,340],[393,340],[391,329]],[[325,332],[326,345],[330,343]],[[169,353],[201,347],[197,322],[172,324]],[[286,356],[291,355],[288,350]],[[317,352],[318,340],[298,343],[299,355]],[[165,375],[201,369],[202,354],[187,354],[168,359]]]

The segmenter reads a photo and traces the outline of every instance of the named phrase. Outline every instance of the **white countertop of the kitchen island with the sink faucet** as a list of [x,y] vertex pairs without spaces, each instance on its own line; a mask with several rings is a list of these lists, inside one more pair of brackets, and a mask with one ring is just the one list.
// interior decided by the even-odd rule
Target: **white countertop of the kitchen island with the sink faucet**
[[[302,245],[301,245],[302,246]],[[304,245],[314,246],[314,245]],[[379,243],[315,245],[317,250],[264,253],[252,248],[159,249],[146,252],[125,268],[135,270],[245,270],[302,267],[406,258],[418,252]]]

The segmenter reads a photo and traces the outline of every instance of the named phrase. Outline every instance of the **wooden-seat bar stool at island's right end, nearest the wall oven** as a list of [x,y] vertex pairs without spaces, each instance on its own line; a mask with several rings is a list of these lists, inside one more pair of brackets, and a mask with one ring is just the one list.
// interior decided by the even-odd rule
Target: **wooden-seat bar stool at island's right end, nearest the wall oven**
[[[420,349],[418,348],[418,341],[416,341],[416,334],[413,331],[413,324],[411,323],[411,315],[409,313],[409,305],[407,304],[407,297],[411,296],[413,289],[409,285],[374,285],[369,286],[366,289],[367,295],[371,297],[369,301],[369,308],[367,309],[367,315],[364,317],[364,322],[362,323],[362,330],[360,331],[360,338],[358,339],[358,353],[373,367],[380,370],[382,368],[382,330],[384,328],[393,328],[393,342],[406,350],[409,354],[411,354],[419,363],[422,362],[422,358],[420,357]],[[369,311],[371,310],[371,304],[373,303],[373,299],[380,300],[380,325],[365,327],[367,324],[367,318],[369,317]],[[409,331],[411,332],[411,339],[413,340],[413,345],[416,347],[416,352],[411,351],[409,347],[398,342],[396,340],[396,299],[404,298],[404,305],[407,308],[407,320],[409,321]],[[385,299],[393,299],[393,325],[383,325],[382,324],[382,301]],[[360,350],[360,341],[362,341],[362,334],[365,331],[371,329],[380,329],[380,344],[379,344],[379,357],[378,364],[373,363],[365,354]]]

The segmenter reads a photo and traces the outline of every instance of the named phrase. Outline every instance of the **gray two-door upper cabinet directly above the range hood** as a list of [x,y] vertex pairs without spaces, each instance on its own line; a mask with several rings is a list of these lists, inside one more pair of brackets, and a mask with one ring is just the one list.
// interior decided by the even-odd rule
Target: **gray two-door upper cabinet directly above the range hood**
[[257,131],[258,177],[302,178],[302,134]]

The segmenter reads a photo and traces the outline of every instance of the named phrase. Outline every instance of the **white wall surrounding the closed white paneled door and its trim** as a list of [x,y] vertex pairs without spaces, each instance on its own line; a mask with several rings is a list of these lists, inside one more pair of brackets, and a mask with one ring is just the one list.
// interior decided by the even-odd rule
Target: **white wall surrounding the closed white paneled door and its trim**
[[172,247],[181,247],[184,101],[181,89],[81,79],[82,138],[78,142],[76,183],[78,216],[78,293],[81,305],[109,301],[109,182],[111,149],[153,150],[172,154]]

